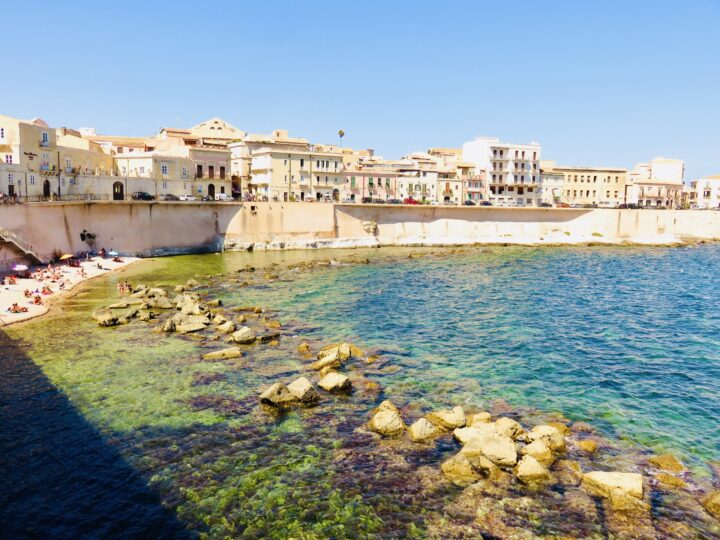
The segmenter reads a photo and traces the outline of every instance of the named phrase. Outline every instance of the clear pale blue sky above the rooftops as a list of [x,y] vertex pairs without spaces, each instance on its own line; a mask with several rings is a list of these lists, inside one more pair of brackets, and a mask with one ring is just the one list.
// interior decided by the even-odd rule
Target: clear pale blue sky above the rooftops
[[5,0],[0,112],[149,135],[220,116],[387,158],[477,135],[720,173],[720,1]]

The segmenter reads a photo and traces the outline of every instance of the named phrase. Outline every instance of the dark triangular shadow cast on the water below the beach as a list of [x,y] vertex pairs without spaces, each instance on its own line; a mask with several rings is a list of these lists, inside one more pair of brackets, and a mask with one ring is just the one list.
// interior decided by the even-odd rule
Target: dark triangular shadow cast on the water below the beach
[[0,538],[190,534],[0,331]]

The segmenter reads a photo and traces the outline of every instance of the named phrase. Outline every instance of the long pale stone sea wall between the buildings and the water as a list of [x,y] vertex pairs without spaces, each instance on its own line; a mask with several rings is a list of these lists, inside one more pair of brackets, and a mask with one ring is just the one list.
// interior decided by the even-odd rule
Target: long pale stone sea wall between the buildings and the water
[[[0,226],[44,257],[88,248],[157,256],[222,249],[381,245],[673,244],[720,239],[720,212],[342,205],[38,203],[0,207]],[[94,244],[81,239],[85,230]],[[14,260],[16,253],[7,253]],[[2,265],[2,260],[0,260]]]

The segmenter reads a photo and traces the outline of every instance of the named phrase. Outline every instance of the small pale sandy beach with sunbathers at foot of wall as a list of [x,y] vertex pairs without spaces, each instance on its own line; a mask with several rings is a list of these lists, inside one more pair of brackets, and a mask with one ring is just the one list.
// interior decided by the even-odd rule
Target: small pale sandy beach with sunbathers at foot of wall
[[[0,286],[0,327],[44,315],[50,310],[50,304],[54,299],[70,292],[79,283],[124,268],[138,260],[137,257],[121,257],[122,262],[115,262],[112,258],[93,257],[89,261],[82,261],[80,267],[59,264],[52,271],[49,270],[49,266],[33,266],[30,268],[31,275],[36,276],[42,272],[42,279],[36,277],[17,279],[15,284],[9,284],[6,276],[5,284]],[[57,277],[59,279],[56,279]],[[64,282],[62,289],[61,282]],[[52,292],[43,294],[44,287],[48,287]],[[32,293],[31,297],[25,296],[26,290]],[[35,296],[40,296],[42,304],[34,303]],[[13,304],[27,308],[27,311],[11,313],[9,308]]]

